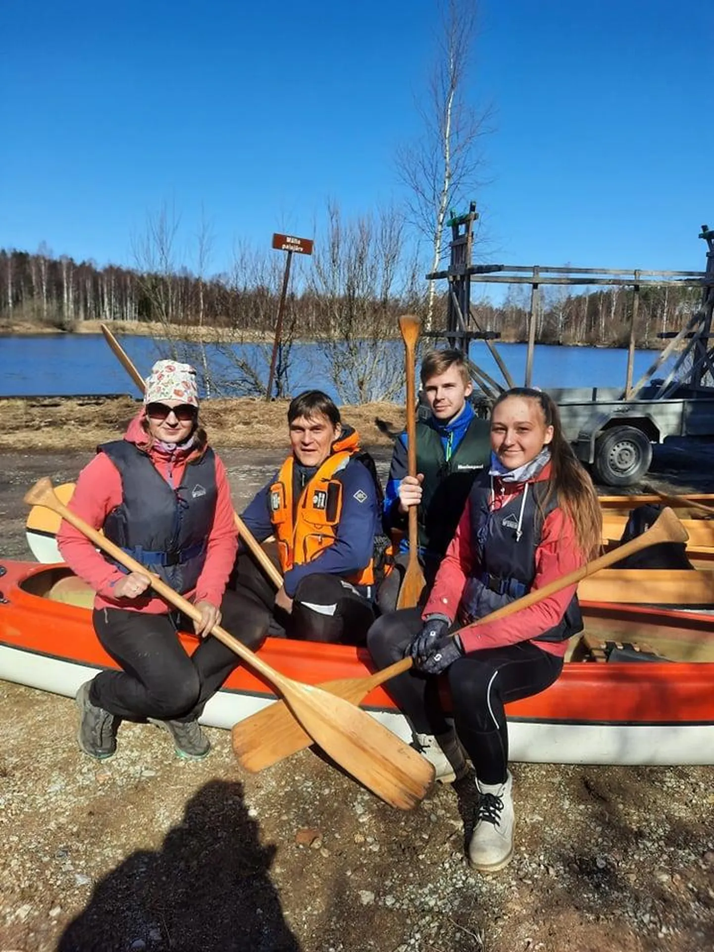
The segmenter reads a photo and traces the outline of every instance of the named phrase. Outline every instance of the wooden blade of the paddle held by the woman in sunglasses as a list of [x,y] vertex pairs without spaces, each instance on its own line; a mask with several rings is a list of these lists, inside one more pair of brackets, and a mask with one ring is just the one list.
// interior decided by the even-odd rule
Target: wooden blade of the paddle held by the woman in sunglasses
[[411,810],[426,797],[432,764],[367,711],[307,684],[284,696],[315,743],[385,803]]

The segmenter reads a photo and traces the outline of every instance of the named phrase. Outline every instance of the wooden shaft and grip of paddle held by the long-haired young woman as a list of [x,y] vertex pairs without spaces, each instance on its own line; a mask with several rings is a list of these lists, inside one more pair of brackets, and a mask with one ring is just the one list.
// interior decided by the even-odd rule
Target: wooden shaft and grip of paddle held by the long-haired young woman
[[[686,542],[688,538],[689,535],[686,529],[674,512],[670,508],[665,508],[657,520],[649,526],[642,535],[637,536],[630,542],[626,542],[625,545],[618,545],[618,547],[612,549],[612,551],[605,552],[605,555],[601,555],[597,559],[593,559],[591,562],[581,565],[580,568],[576,568],[572,572],[562,575],[559,579],[553,579],[552,582],[544,585],[543,588],[533,588],[521,598],[513,602],[508,602],[507,605],[502,605],[500,608],[496,608],[495,611],[485,615],[483,618],[477,619],[470,625],[466,625],[466,627],[470,628],[478,625],[486,625],[488,622],[497,622],[499,619],[506,618],[508,615],[514,615],[517,611],[523,611],[524,608],[544,601],[544,599],[549,598],[563,588],[567,588],[568,585],[577,585],[589,575],[594,575],[596,572],[607,568],[608,565],[620,562],[621,559],[625,559],[628,555],[639,552],[649,545],[657,545],[662,542]],[[460,630],[462,629],[452,631],[451,637],[458,635]],[[394,678],[398,674],[407,671],[409,667],[411,667],[411,658],[403,658],[401,661],[383,668],[382,671],[376,672],[377,674],[386,675],[381,681],[372,684],[371,682],[374,675],[371,675],[367,679],[366,684],[369,684],[369,690],[372,690],[373,687],[376,687],[378,684],[383,684],[385,681],[388,681],[389,678]]]

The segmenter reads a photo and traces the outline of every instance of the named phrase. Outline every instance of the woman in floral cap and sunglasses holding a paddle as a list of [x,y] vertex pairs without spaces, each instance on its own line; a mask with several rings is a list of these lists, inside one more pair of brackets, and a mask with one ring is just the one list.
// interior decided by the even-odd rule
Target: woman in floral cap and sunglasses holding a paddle
[[[226,468],[200,424],[193,367],[154,364],[144,407],[123,440],[99,447],[69,507],[201,611],[190,623],[153,594],[148,574],[128,573],[63,522],[60,551],[96,591],[94,629],[121,668],[77,692],[80,746],[110,757],[121,721],[146,720],[169,731],[180,755],[205,757],[198,718],[238,663],[210,630],[223,621],[240,637],[240,619],[226,589],[237,548]],[[189,656],[176,632],[191,624],[201,641]]]

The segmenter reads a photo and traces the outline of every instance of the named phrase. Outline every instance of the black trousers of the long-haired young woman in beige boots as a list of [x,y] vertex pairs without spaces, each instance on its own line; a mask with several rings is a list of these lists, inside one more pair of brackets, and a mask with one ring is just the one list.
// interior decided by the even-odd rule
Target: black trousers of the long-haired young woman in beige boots
[[[381,669],[404,657],[422,628],[418,608],[383,615],[369,629],[367,647]],[[508,764],[508,729],[504,705],[538,694],[558,678],[563,659],[532,642],[472,651],[448,668],[456,732],[482,783],[504,783]],[[438,679],[413,669],[385,685],[418,734],[449,729],[439,703]]]

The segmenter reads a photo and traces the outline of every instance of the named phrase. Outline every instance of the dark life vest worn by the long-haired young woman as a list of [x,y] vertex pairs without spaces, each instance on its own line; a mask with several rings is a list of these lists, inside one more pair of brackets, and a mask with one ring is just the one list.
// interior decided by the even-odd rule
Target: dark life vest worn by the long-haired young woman
[[[529,483],[505,506],[490,511],[490,479],[484,474],[468,497],[472,551],[478,575],[466,581],[459,605],[464,624],[484,618],[496,608],[521,598],[535,579],[535,556],[541,544],[545,516],[558,506],[555,493],[545,502],[548,484]],[[525,497],[525,498],[524,498]],[[583,630],[577,595],[565,615],[552,628],[534,638],[539,642],[564,642]]]

